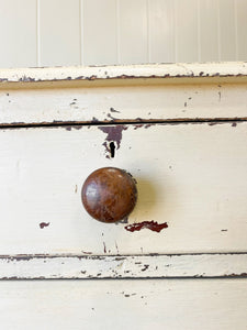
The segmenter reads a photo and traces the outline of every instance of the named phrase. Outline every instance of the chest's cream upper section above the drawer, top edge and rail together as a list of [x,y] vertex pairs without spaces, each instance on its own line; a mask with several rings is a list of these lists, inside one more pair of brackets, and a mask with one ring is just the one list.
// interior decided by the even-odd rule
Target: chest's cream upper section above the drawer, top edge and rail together
[[245,63],[1,70],[0,123],[247,118],[246,76]]

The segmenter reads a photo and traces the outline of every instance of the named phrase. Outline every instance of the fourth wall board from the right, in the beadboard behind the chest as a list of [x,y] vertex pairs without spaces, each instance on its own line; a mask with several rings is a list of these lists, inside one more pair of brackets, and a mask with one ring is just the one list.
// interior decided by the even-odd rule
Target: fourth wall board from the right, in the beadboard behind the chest
[[198,0],[176,1],[178,62],[198,61]]

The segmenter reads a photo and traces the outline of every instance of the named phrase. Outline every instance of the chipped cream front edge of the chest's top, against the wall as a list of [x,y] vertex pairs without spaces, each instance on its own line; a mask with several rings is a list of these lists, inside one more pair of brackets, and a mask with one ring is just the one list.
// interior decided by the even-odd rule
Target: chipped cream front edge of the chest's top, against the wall
[[[247,63],[147,64],[130,66],[88,66],[1,69],[1,85],[8,82],[41,82],[60,80],[97,80],[126,78],[197,78],[247,76]],[[181,82],[180,79],[177,79]]]

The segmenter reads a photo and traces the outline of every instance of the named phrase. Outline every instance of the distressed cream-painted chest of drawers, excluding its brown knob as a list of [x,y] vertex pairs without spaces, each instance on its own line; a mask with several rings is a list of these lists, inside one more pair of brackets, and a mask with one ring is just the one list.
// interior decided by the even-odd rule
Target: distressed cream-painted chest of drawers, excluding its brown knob
[[[246,64],[0,76],[4,329],[246,329]],[[108,166],[138,190],[117,223],[81,204]]]

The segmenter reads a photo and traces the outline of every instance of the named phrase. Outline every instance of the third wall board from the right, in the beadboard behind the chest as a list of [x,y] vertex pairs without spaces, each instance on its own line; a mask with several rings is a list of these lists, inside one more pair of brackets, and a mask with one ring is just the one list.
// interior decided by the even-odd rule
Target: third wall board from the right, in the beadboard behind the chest
[[217,0],[200,0],[200,61],[218,59],[218,7]]

